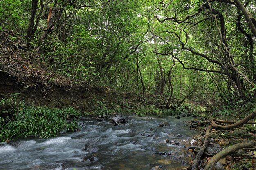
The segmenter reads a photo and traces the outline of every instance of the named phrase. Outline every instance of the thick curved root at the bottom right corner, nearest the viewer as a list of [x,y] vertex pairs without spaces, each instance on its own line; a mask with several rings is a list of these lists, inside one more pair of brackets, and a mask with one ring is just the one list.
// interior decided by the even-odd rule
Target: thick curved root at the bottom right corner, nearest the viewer
[[223,157],[230,155],[231,153],[233,153],[234,151],[238,150],[238,149],[243,149],[243,148],[248,148],[248,147],[252,147],[252,146],[256,146],[256,141],[248,141],[248,142],[243,142],[243,143],[239,143],[239,144],[234,144],[232,146],[229,146],[228,148],[220,151],[219,153],[217,153],[216,155],[214,155],[211,160],[206,164],[206,166],[204,167],[204,170],[212,170],[213,167],[215,166],[215,164]]

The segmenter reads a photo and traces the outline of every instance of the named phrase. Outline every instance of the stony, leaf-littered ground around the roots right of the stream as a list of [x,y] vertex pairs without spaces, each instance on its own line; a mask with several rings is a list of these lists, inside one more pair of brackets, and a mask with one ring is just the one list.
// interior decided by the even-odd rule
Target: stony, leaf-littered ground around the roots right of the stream
[[[227,119],[227,117],[220,115],[216,116],[218,119]],[[229,115],[228,120],[240,120],[239,116]],[[193,145],[202,146],[205,137],[205,130],[207,126],[210,125],[209,117],[194,118],[190,121],[191,128],[200,130],[200,135],[195,136],[195,141]],[[224,124],[223,124],[224,125]],[[225,149],[234,144],[243,143],[247,141],[256,141],[256,128],[253,125],[243,125],[238,128],[231,130],[218,130],[211,129],[210,131],[210,141],[209,146],[214,146],[217,144],[221,148]],[[216,146],[214,146],[216,147]],[[215,150],[216,149],[216,150]],[[188,150],[189,152],[194,152],[197,154],[199,148]],[[220,163],[215,167],[216,170],[256,170],[256,148],[246,148],[240,149],[233,152],[231,155],[220,159]],[[209,152],[216,152],[217,148],[206,149],[204,155],[201,157],[200,167],[204,165],[211,159],[212,156],[207,155]],[[219,151],[218,151],[219,152]],[[216,165],[217,165],[216,164]]]

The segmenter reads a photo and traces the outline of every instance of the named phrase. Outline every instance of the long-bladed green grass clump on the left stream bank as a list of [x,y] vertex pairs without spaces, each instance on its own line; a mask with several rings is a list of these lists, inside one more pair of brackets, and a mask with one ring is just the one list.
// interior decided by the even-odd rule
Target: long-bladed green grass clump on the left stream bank
[[[2,110],[1,110],[2,112]],[[67,123],[67,115],[80,117],[74,108],[50,109],[26,106],[20,102],[12,116],[0,117],[0,141],[20,137],[54,137],[61,131],[74,131],[77,120]]]

